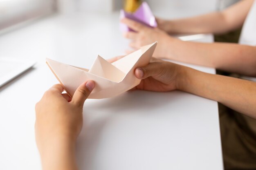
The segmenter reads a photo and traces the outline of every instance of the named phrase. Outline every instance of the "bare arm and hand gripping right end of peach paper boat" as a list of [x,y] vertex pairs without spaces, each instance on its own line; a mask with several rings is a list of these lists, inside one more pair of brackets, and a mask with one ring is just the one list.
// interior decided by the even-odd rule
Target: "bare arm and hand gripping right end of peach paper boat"
[[256,82],[203,73],[157,59],[153,59],[147,66],[136,68],[135,76],[141,79],[136,89],[177,89],[215,100],[256,119]]

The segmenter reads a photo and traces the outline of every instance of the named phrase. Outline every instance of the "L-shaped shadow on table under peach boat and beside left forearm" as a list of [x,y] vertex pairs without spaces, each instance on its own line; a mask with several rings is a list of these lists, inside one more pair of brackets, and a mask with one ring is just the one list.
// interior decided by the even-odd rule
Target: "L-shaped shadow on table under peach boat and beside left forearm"
[[[104,128],[116,120],[120,114],[136,119],[136,116],[158,114],[159,107],[180,100],[183,95],[180,91],[157,93],[148,91],[129,91],[123,95],[110,99],[96,99],[85,102],[85,114],[83,118],[83,130],[77,144],[77,159],[81,169],[97,169],[97,150]],[[150,110],[150,113],[147,112]],[[156,110],[156,112],[154,112]],[[88,122],[88,117],[95,116],[94,121]],[[88,125],[89,124],[89,125]],[[111,153],[109,153],[111,156]]]

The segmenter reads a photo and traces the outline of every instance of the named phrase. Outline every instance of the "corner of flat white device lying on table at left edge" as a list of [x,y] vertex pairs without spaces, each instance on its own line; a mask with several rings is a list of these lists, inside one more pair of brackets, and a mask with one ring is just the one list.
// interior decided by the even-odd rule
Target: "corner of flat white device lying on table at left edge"
[[32,68],[34,64],[34,61],[0,57],[0,87]]

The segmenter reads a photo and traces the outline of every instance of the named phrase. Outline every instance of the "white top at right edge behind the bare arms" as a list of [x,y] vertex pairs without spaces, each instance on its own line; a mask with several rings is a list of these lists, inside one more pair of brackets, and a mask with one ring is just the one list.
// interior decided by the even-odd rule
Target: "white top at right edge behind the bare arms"
[[[252,4],[252,7],[243,25],[243,29],[239,38],[239,44],[256,46],[256,0],[254,0],[254,3]],[[243,76],[243,78],[256,82],[255,77]]]

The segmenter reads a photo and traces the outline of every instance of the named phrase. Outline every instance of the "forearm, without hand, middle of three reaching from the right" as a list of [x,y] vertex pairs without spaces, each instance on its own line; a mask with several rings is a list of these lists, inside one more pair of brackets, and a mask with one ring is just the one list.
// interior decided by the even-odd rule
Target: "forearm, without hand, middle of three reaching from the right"
[[165,58],[256,77],[256,47],[169,39]]

